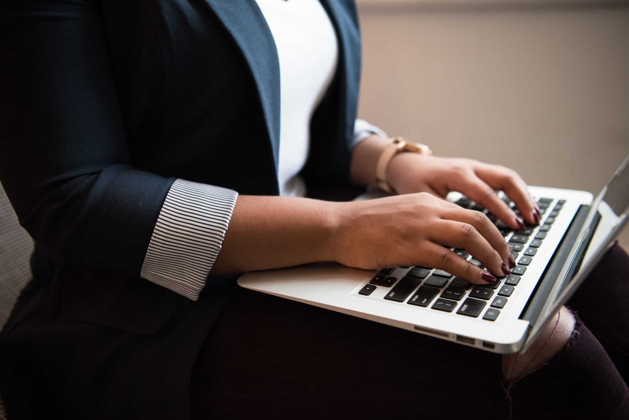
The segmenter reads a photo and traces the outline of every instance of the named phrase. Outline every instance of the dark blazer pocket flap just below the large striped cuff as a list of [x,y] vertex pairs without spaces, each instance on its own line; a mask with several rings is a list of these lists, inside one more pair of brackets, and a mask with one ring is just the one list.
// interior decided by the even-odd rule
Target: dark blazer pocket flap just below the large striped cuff
[[56,277],[65,314],[128,333],[157,333],[185,299],[139,275],[109,268],[64,264]]

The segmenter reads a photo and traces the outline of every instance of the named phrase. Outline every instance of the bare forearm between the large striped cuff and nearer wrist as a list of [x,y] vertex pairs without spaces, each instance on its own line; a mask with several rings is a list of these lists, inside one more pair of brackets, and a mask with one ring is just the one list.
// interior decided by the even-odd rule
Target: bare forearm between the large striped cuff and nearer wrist
[[211,274],[333,261],[338,214],[333,202],[238,196]]

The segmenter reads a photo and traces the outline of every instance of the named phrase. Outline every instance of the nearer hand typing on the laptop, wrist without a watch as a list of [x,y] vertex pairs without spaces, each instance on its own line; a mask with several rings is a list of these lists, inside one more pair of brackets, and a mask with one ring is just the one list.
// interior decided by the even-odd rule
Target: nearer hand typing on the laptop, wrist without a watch
[[[488,284],[515,267],[509,245],[483,213],[426,192],[338,204],[335,260],[377,269],[423,265],[476,284]],[[491,272],[443,245],[462,248]]]

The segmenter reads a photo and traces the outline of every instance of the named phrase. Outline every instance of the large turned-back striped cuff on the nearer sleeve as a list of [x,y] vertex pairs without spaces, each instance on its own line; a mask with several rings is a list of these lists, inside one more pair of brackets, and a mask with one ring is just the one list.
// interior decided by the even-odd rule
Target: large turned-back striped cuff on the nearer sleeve
[[225,239],[238,193],[177,179],[160,209],[140,275],[193,301]]

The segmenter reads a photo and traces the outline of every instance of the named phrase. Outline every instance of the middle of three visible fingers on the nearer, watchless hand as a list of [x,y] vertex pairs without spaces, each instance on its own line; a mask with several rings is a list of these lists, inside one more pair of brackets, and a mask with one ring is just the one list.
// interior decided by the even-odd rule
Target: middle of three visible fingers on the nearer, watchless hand
[[503,277],[503,275],[511,274],[511,270],[498,251],[489,245],[484,236],[469,223],[455,220],[438,221],[428,229],[428,235],[435,243],[464,249],[487,267],[493,275]]

